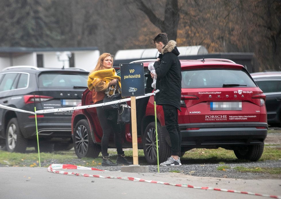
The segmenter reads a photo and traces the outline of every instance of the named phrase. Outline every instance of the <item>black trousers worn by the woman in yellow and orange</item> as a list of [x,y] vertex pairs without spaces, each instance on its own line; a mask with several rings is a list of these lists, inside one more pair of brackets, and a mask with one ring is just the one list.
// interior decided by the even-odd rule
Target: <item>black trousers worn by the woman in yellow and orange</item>
[[[103,101],[97,102],[96,104],[102,103]],[[123,154],[122,147],[122,134],[121,127],[117,124],[118,110],[103,110],[102,106],[97,107],[97,115],[101,128],[103,129],[103,137],[101,138],[101,154],[108,156],[108,142],[109,138],[114,134],[114,143],[118,154]]]

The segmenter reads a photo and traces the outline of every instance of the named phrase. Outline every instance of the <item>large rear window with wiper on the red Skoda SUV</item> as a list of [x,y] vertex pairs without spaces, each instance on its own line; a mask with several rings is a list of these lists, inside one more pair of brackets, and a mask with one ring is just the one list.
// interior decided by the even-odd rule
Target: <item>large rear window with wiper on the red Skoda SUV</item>
[[182,71],[182,88],[257,87],[247,73],[233,69]]

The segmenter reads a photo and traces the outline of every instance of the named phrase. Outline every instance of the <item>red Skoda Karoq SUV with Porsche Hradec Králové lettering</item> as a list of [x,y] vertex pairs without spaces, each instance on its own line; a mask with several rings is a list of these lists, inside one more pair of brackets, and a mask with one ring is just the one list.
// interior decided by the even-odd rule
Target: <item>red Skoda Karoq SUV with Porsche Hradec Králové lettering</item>
[[[145,93],[151,93],[152,79],[144,63]],[[136,63],[134,62],[134,63]],[[182,68],[181,112],[178,122],[182,134],[181,154],[193,148],[233,150],[238,159],[257,161],[267,136],[265,95],[248,71],[226,59],[180,60]],[[86,89],[82,104],[92,104]],[[136,100],[138,148],[149,164],[157,164],[154,98]],[[78,105],[78,106],[81,106]],[[162,106],[157,106],[159,161],[171,155],[170,137],[165,128]],[[123,147],[132,148],[130,125],[124,125]],[[72,137],[76,155],[97,157],[102,129],[96,109],[75,110]],[[114,148],[113,140],[109,147]]]

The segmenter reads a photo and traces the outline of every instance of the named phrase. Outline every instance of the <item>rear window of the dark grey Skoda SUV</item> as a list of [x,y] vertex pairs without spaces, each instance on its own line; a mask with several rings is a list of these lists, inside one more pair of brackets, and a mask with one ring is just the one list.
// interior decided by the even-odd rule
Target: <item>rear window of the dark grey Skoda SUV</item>
[[88,74],[42,73],[38,77],[39,88],[87,87]]

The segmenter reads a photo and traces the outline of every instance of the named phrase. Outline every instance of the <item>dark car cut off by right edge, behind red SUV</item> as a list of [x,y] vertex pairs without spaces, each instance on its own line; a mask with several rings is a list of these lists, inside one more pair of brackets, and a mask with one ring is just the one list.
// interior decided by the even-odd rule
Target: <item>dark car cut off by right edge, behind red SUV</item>
[[256,84],[266,95],[267,123],[281,124],[281,71],[251,73]]

